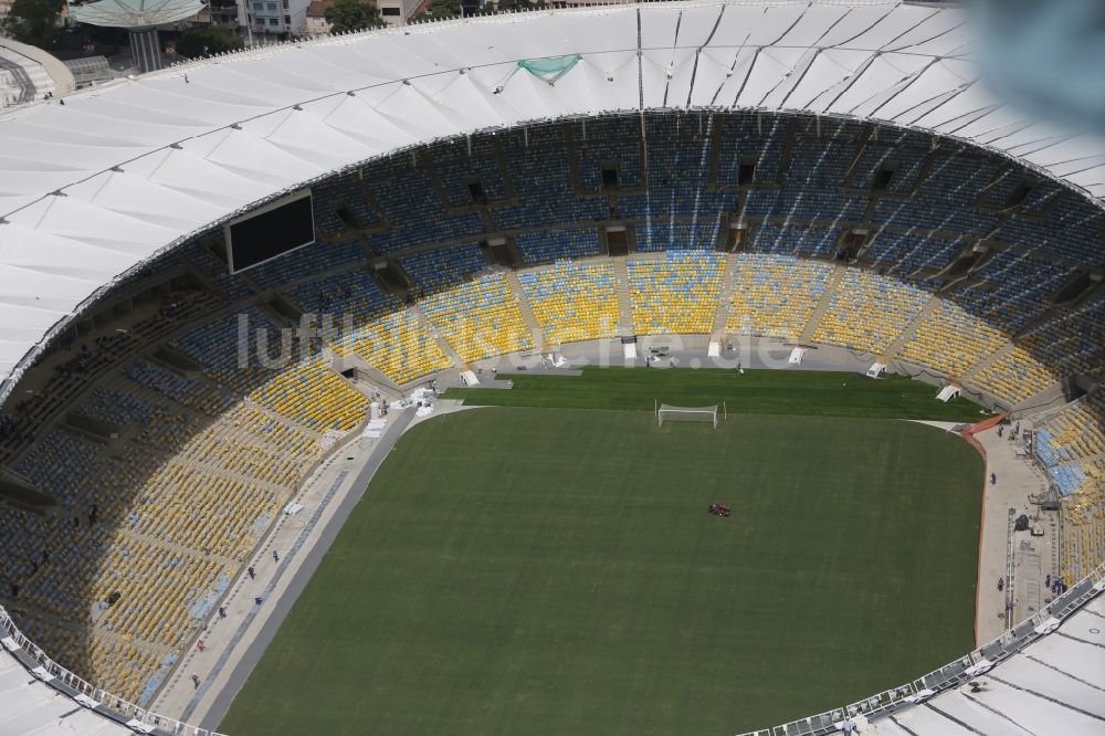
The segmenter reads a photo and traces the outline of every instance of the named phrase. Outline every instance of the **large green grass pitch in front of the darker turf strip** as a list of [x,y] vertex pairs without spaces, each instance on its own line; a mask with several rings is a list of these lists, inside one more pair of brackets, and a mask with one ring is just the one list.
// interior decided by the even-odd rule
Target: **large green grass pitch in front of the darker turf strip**
[[433,419],[220,730],[722,736],[842,705],[972,646],[982,474],[899,420]]

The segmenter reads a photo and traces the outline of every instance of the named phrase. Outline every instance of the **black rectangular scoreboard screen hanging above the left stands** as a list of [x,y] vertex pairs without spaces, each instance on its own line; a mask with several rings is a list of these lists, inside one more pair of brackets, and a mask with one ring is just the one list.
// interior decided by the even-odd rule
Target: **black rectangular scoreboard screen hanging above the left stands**
[[284,197],[225,227],[230,272],[245,271],[315,242],[311,190]]

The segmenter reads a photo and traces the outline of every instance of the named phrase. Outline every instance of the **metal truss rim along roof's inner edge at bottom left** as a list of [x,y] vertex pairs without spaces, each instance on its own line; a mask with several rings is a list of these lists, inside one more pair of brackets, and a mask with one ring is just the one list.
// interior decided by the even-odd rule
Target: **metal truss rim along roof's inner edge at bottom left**
[[23,635],[8,611],[0,607],[0,644],[20,661],[36,680],[50,685],[73,702],[137,734],[154,736],[224,736],[207,728],[191,726],[135,705],[82,680],[50,659],[33,641]]

